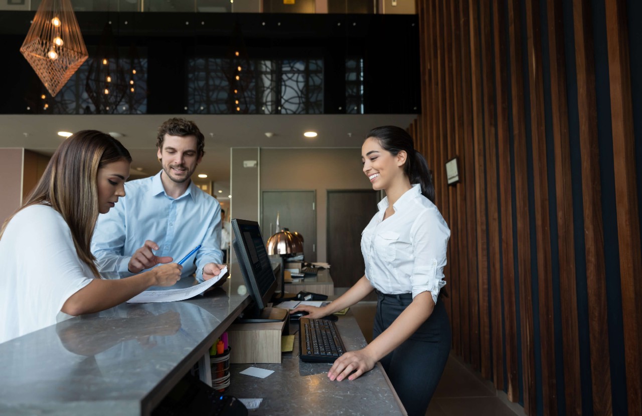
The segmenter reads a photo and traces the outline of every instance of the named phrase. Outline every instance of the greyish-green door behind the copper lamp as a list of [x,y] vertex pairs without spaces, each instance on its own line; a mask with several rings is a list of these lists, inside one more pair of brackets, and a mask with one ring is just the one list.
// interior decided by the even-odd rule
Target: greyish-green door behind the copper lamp
[[280,228],[297,231],[304,238],[306,262],[317,261],[317,194],[313,190],[264,190],[261,193],[261,231],[267,242]]

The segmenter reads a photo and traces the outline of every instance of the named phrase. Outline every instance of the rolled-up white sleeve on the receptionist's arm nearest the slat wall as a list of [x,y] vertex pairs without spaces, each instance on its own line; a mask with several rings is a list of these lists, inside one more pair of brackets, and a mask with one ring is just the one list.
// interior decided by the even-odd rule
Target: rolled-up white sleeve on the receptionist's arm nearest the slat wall
[[439,290],[446,286],[444,267],[450,229],[437,209],[429,209],[413,223],[410,238],[414,258],[410,276],[412,297],[428,291],[437,304]]

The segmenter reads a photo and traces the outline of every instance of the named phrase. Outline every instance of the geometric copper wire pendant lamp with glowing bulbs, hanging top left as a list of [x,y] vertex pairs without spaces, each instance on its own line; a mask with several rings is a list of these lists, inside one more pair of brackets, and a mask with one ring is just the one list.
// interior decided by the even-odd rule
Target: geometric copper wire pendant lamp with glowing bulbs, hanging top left
[[43,0],[20,48],[51,96],[89,56],[70,0]]

